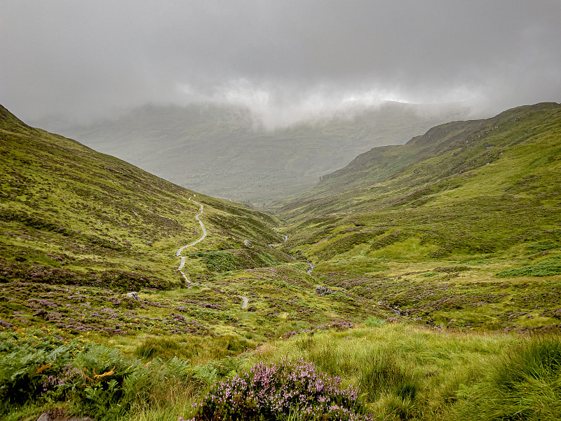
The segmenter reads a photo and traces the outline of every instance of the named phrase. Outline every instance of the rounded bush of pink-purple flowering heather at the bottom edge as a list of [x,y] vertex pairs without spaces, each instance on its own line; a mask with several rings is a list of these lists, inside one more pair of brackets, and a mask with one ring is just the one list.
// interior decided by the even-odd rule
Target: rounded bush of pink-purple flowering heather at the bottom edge
[[342,389],[340,382],[303,360],[257,363],[212,387],[193,420],[372,420],[356,389]]

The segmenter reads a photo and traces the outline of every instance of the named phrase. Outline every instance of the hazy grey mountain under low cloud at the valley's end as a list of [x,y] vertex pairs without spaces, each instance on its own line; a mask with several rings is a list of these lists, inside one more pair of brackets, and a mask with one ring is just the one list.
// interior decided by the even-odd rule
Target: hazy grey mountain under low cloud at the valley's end
[[265,207],[379,145],[400,145],[468,113],[461,105],[387,102],[346,116],[256,128],[248,109],[146,106],[88,126],[36,122],[178,185]]

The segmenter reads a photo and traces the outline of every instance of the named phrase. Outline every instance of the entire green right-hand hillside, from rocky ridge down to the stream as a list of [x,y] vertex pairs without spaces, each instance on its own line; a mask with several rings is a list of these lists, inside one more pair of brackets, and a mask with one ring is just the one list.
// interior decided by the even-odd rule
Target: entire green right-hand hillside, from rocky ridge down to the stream
[[286,205],[286,248],[327,283],[426,323],[557,325],[560,156],[557,104],[437,126]]

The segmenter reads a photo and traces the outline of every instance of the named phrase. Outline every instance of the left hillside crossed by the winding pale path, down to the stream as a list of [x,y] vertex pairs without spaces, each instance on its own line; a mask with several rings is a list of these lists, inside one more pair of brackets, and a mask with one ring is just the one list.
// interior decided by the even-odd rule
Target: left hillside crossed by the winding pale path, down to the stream
[[[180,354],[226,337],[191,355],[208,359],[380,311],[358,306],[362,298],[317,298],[307,265],[274,246],[283,240],[276,219],[202,194],[208,236],[184,250],[184,272],[199,284],[187,288],[175,251],[201,235],[194,192],[0,112],[4,326],[47,324],[130,351],[144,337],[187,335]],[[130,290],[141,300],[124,298]],[[240,309],[241,295],[251,311]]]

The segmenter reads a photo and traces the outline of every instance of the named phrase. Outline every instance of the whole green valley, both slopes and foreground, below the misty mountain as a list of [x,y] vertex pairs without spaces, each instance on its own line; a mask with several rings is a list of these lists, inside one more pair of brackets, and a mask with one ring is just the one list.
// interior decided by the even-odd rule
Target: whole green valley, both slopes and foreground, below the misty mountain
[[198,191],[231,175],[186,189],[0,107],[0,417],[307,413],[271,383],[310,420],[554,420],[561,105],[436,124],[281,193],[271,168],[265,213]]

